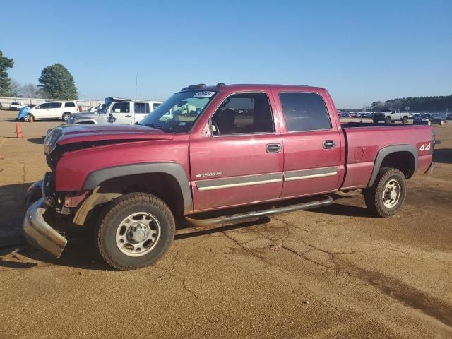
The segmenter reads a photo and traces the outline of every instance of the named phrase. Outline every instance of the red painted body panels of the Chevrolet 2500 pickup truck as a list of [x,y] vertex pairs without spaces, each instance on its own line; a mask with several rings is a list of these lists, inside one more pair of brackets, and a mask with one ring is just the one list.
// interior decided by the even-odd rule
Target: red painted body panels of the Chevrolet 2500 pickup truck
[[[242,206],[263,201],[275,201],[295,196],[365,187],[369,183],[376,155],[388,145],[414,145],[419,151],[418,172],[425,172],[432,163],[432,149],[422,145],[432,143],[430,126],[341,126],[333,100],[324,88],[292,85],[227,85],[207,87],[217,92],[205,112],[198,117],[190,133],[164,133],[145,126],[77,125],[63,127],[55,140],[46,144],[46,152],[55,147],[83,143],[86,148],[69,150],[56,167],[57,191],[80,191],[93,171],[108,167],[145,162],[175,162],[182,165],[191,184],[194,212],[230,206]],[[275,122],[274,133],[240,136],[203,136],[210,117],[228,96],[235,93],[266,93]],[[323,131],[287,132],[280,92],[311,92],[321,95],[328,109],[331,129]],[[334,141],[335,147],[323,148],[323,141]],[[90,142],[117,141],[112,145]],[[268,143],[280,143],[280,153],[267,153]],[[333,169],[324,177],[302,176],[285,180],[300,171]],[[201,175],[199,175],[201,174]],[[202,174],[206,174],[203,176]],[[280,174],[281,180],[205,188],[208,180],[236,180],[247,176]],[[256,179],[258,180],[258,179]],[[192,211],[192,212],[193,212]]]

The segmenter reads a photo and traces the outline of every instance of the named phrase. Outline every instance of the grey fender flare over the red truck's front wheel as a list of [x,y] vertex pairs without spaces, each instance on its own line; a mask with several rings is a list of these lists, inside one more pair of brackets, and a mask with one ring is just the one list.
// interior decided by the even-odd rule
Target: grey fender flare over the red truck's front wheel
[[147,162],[143,164],[122,165],[99,169],[88,174],[83,184],[84,191],[92,191],[108,179],[124,177],[133,174],[165,173],[169,174],[179,183],[184,199],[184,214],[192,213],[193,199],[189,179],[186,177],[184,168],[176,162]]

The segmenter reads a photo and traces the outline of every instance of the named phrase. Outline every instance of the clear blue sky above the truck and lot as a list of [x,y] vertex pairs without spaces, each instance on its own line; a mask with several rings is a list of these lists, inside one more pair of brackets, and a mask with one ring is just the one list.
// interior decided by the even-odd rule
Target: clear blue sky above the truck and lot
[[81,99],[194,83],[327,88],[337,107],[452,94],[452,0],[1,1],[20,84],[61,63]]

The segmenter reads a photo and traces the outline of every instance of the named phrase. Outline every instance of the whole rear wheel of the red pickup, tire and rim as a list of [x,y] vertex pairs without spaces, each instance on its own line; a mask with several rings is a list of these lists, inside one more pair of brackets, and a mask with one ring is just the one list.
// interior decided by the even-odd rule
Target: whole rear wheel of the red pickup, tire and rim
[[372,214],[385,218],[397,213],[406,195],[405,175],[398,169],[383,167],[374,184],[364,190],[364,201]]

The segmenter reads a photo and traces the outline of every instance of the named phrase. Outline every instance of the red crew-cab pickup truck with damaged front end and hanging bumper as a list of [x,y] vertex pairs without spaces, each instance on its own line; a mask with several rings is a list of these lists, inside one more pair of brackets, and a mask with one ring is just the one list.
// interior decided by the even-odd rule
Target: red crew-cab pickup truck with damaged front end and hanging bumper
[[191,85],[134,126],[49,131],[52,172],[30,187],[23,230],[60,256],[65,227],[93,225],[102,258],[129,270],[165,254],[181,218],[225,225],[326,206],[328,193],[352,189],[387,217],[406,179],[432,167],[434,143],[431,126],[341,125],[323,88]]

